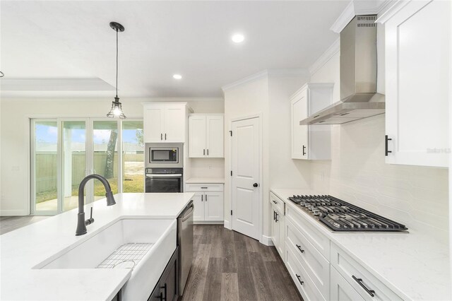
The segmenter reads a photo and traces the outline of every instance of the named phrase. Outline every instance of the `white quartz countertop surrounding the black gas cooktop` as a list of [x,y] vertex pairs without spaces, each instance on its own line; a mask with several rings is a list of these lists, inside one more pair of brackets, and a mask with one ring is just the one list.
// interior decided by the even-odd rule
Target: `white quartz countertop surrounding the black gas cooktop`
[[286,206],[297,208],[331,242],[367,268],[404,300],[452,300],[450,259],[446,242],[422,232],[338,233],[328,230],[287,198],[319,194],[309,189],[270,189]]

